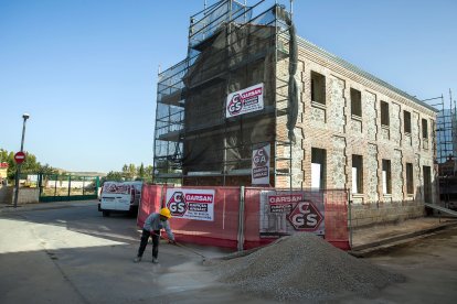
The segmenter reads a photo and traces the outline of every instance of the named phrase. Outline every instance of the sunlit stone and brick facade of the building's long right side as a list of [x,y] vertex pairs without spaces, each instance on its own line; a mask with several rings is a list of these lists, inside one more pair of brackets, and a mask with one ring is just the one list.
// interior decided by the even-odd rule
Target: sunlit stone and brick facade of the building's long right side
[[[300,44],[299,44],[300,46]],[[311,185],[311,149],[323,149],[326,187],[352,189],[358,178],[363,193],[351,194],[353,226],[395,221],[424,214],[423,167],[432,169],[431,193],[436,198],[435,143],[432,138],[436,111],[414,98],[392,89],[382,82],[364,77],[360,70],[347,68],[340,61],[320,56],[312,47],[299,47],[300,115],[293,146],[293,186]],[[280,77],[287,65],[278,63]],[[311,72],[325,76],[326,100],[311,100]],[[362,116],[351,109],[351,88],[361,93]],[[381,101],[389,105],[389,124],[381,123]],[[411,113],[411,133],[405,133],[404,112]],[[422,138],[422,120],[428,123],[428,139]],[[285,133],[285,120],[277,120],[276,130]],[[280,138],[277,135],[277,138]],[[285,149],[287,150],[287,149]],[[287,154],[286,151],[283,154]],[[277,151],[278,152],[278,151]],[[288,153],[290,155],[290,153]],[[362,176],[352,176],[353,155],[361,155]],[[280,155],[278,155],[280,156]],[[295,160],[296,159],[296,160]],[[390,163],[390,193],[384,193],[383,160]],[[414,192],[407,187],[406,164],[413,165]],[[289,187],[288,178],[276,178],[276,187]]]

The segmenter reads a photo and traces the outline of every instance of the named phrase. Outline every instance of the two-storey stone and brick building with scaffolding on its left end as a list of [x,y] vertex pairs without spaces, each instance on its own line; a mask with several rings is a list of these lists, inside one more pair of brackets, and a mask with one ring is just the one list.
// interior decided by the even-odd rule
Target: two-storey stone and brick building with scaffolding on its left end
[[437,110],[297,36],[277,2],[191,17],[188,57],[159,74],[155,182],[252,185],[267,148],[263,185],[422,214],[437,196]]

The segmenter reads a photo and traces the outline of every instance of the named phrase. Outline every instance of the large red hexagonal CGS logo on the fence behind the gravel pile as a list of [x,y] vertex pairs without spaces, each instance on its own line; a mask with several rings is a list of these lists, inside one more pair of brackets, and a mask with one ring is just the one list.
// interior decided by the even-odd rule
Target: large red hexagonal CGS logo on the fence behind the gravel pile
[[319,228],[323,216],[311,202],[300,202],[287,216],[287,219],[298,231],[315,231]]

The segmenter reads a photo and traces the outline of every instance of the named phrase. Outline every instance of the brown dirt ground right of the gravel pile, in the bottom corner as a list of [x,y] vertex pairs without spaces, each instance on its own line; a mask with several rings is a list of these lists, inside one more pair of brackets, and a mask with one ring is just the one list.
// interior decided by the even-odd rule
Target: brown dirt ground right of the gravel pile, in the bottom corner
[[[369,260],[406,276],[405,283],[389,286],[374,298],[392,303],[457,303],[457,228],[379,251]],[[354,303],[354,298],[349,302]]]

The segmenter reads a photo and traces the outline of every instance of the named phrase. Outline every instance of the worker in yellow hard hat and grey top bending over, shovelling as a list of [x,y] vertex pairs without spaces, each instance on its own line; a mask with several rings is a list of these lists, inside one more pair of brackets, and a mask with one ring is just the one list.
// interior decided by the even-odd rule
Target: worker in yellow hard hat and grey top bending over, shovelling
[[170,218],[171,213],[169,208],[161,208],[158,214],[152,213],[148,216],[142,226],[141,242],[134,262],[138,263],[141,261],[149,237],[152,237],[152,263],[158,263],[160,229],[164,229],[169,242],[176,245],[173,232],[171,232],[170,224],[168,222]]

